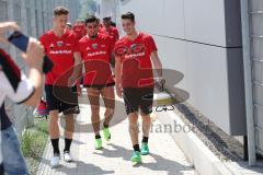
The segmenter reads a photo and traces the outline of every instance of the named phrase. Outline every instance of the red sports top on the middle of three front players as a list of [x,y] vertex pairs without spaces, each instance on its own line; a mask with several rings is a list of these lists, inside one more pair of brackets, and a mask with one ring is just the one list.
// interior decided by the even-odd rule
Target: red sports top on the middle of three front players
[[98,86],[114,83],[110,66],[114,44],[107,35],[99,34],[95,39],[88,36],[79,40],[78,49],[84,60],[85,86]]

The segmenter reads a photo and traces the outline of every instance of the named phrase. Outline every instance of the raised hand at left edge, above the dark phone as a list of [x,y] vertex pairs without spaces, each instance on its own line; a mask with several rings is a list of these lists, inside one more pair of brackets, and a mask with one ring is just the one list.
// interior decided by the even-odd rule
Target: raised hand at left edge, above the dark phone
[[9,30],[20,31],[20,27],[15,22],[2,22],[2,23],[0,23],[0,43],[8,44],[8,40],[4,36],[4,34]]

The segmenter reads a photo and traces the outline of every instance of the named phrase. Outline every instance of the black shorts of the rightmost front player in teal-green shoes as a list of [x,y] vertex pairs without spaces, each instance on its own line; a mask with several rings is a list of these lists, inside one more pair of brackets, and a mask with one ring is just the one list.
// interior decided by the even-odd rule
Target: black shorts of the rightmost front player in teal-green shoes
[[127,115],[139,109],[144,115],[152,113],[153,88],[124,88],[123,96]]

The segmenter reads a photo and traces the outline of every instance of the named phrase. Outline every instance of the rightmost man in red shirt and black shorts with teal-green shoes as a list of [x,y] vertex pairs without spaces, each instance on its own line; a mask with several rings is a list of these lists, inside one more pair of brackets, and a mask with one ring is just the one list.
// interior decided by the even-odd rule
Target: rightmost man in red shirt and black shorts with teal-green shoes
[[[157,54],[153,38],[135,28],[135,16],[127,12],[122,15],[123,30],[126,33],[115,44],[116,92],[124,96],[126,113],[129,118],[129,135],[134,147],[132,162],[140,163],[141,154],[149,154],[148,138],[150,114],[153,98],[153,72],[151,61],[157,69],[159,83],[163,84],[162,65]],[[138,143],[138,112],[142,116],[144,138],[141,149]]]

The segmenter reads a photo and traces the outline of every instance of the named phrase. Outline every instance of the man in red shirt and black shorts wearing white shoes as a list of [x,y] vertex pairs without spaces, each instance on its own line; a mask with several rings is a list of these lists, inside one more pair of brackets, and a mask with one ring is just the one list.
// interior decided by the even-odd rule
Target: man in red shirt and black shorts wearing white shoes
[[78,95],[76,86],[71,86],[78,77],[81,58],[77,52],[78,38],[71,31],[66,30],[69,11],[62,7],[54,10],[53,28],[41,36],[46,55],[54,62],[54,68],[46,74],[45,92],[49,109],[49,135],[54,149],[50,165],[59,165],[59,127],[58,114],[65,115],[65,150],[64,159],[71,162],[70,145],[73,135],[73,114],[78,113]]

